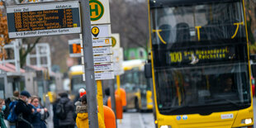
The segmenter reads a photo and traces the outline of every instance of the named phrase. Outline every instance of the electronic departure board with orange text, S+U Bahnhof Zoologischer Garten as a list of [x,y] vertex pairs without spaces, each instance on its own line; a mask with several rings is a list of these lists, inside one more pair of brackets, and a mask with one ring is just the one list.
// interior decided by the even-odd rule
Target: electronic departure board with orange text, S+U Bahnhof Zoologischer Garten
[[81,33],[78,2],[7,7],[9,38]]

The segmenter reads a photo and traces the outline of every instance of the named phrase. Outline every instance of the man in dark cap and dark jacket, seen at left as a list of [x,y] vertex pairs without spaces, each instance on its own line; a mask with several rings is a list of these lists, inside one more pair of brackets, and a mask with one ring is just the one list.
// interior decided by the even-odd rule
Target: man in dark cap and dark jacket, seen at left
[[17,128],[30,128],[33,127],[31,124],[31,117],[33,116],[34,109],[28,104],[28,98],[31,97],[31,94],[26,91],[20,93],[20,99],[17,102],[15,107],[15,112],[18,116],[16,121]]

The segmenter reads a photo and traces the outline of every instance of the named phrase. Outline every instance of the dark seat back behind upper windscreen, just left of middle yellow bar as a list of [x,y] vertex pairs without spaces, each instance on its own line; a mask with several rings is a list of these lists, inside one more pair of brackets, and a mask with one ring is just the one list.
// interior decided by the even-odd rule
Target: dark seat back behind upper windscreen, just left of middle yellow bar
[[176,42],[189,41],[191,39],[189,26],[185,22],[180,22],[176,26]]

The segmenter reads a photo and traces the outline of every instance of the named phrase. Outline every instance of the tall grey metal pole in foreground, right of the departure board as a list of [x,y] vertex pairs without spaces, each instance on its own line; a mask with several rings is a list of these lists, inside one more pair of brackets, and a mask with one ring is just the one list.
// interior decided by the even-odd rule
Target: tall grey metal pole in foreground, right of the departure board
[[97,99],[96,84],[94,77],[94,63],[92,55],[92,32],[89,0],[80,0],[81,2],[81,19],[82,19],[82,37],[83,37],[83,61],[85,73],[85,85],[87,90],[88,101],[88,119],[89,127],[97,128]]

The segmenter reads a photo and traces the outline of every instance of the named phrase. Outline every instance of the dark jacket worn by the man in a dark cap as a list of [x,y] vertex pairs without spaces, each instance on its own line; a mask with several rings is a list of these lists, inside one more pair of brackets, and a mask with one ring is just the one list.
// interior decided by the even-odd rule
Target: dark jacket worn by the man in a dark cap
[[[21,99],[18,100],[17,105],[15,107],[15,112],[17,116],[22,115],[22,118],[28,121],[29,123],[32,122],[31,117],[32,115],[32,106],[27,105],[26,102],[23,102]],[[17,128],[30,128],[31,124],[26,123],[25,121],[21,121],[18,119],[16,122]]]

